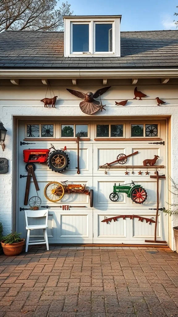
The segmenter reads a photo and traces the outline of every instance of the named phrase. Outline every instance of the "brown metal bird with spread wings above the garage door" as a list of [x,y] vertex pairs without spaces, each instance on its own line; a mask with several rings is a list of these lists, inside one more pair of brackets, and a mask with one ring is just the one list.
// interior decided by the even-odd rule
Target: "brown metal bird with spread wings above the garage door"
[[74,96],[81,98],[81,99],[84,99],[84,101],[81,101],[79,104],[82,112],[84,112],[86,114],[93,114],[93,113],[97,112],[99,109],[101,109],[101,111],[104,109],[102,102],[100,103],[98,100],[94,100],[94,98],[100,97],[109,88],[111,88],[111,86],[98,89],[97,91],[95,91],[94,94],[92,92],[88,92],[88,93],[84,94],[81,91],[67,89],[67,88],[66,89],[69,91],[69,93],[73,94]]

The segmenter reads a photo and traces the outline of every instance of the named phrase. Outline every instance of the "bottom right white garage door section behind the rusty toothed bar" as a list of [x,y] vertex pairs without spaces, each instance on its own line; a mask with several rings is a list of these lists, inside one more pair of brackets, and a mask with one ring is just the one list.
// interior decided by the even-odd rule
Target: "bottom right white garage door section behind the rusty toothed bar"
[[[110,241],[110,243],[145,243],[145,240],[153,240],[154,238],[154,223],[146,223],[145,220],[143,222],[138,221],[138,218],[134,218],[130,220],[130,218],[118,218],[117,221],[114,222],[112,220],[108,224],[106,222],[101,222],[105,219],[105,217],[110,218],[118,215],[132,215],[132,210],[108,210],[105,212],[104,210],[100,210],[98,212],[93,212],[93,222],[98,223],[98,226],[95,226],[93,242],[99,243],[107,243],[106,241]],[[134,215],[138,215],[145,218],[153,218],[155,220],[156,211],[148,212],[147,210],[134,210]],[[164,217],[164,218],[162,218]],[[166,224],[166,216],[162,216],[162,213],[158,216],[158,225],[157,225],[157,240],[165,240],[166,232],[164,230],[164,225]]]

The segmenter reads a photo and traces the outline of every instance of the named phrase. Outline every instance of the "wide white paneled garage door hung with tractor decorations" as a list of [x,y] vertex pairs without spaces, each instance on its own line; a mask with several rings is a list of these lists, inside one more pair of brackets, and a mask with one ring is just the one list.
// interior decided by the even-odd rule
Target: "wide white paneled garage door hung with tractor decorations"
[[[149,124],[148,124],[149,123]],[[117,122],[118,124],[118,122]],[[114,124],[116,125],[116,124]],[[23,162],[24,149],[47,149],[52,143],[56,149],[63,149],[67,146],[67,154],[70,158],[70,165],[66,171],[55,173],[51,171],[46,164],[36,163],[35,175],[38,181],[40,191],[38,195],[41,197],[41,206],[49,207],[48,220],[48,239],[49,243],[132,243],[143,244],[145,240],[151,240],[154,237],[154,223],[146,223],[138,221],[138,218],[118,218],[117,221],[102,222],[106,217],[114,217],[118,215],[138,215],[146,218],[155,219],[156,215],[156,179],[150,178],[155,175],[155,167],[148,168],[128,168],[125,166],[143,166],[144,159],[153,159],[155,155],[159,156],[156,165],[163,165],[164,168],[157,168],[159,174],[166,174],[166,142],[165,145],[155,144],[166,141],[166,121],[151,122],[135,122],[126,121],[122,123],[123,134],[120,137],[112,137],[116,131],[116,127],[112,122],[106,122],[99,125],[97,122],[83,123],[88,126],[87,135],[80,134],[80,150],[79,150],[79,166],[80,174],[77,174],[77,129],[82,126],[81,123],[70,124],[55,122],[21,122],[18,132],[18,231],[26,235],[25,218],[23,208],[24,195],[27,178],[20,178],[19,175],[27,175],[25,163]],[[30,129],[36,129],[37,132],[29,134]],[[33,126],[37,126],[34,128]],[[42,133],[44,126],[53,126],[52,137],[45,137]],[[63,137],[62,129],[70,126],[73,129],[72,137]],[[99,126],[99,127],[98,127]],[[134,128],[136,126],[136,128]],[[154,133],[147,136],[146,129],[154,130]],[[152,128],[151,128],[152,126]],[[156,129],[154,128],[156,127]],[[84,128],[84,130],[85,130]],[[100,129],[100,130],[99,130]],[[115,129],[115,130],[114,130]],[[147,132],[149,131],[147,129]],[[81,130],[81,127],[80,127]],[[31,130],[30,130],[31,131]],[[34,130],[35,131],[35,130]],[[65,130],[67,131],[67,130]],[[72,130],[70,130],[71,133]],[[99,131],[99,133],[98,133]],[[139,136],[133,136],[133,132],[139,133]],[[81,132],[81,131],[80,131]],[[155,135],[156,132],[156,135]],[[98,133],[98,134],[97,134]],[[104,136],[103,136],[103,134]],[[107,134],[108,133],[108,134]],[[120,133],[120,132],[119,132]],[[116,133],[115,133],[116,134]],[[143,134],[143,135],[142,135]],[[148,133],[147,133],[148,134]],[[30,135],[30,136],[29,136]],[[158,140],[159,139],[159,140]],[[23,141],[25,140],[25,141]],[[20,146],[20,141],[33,144],[25,144]],[[100,166],[116,160],[118,154],[129,155],[138,152],[136,155],[130,156],[125,164],[114,163],[115,168],[103,169]],[[120,168],[118,168],[118,166]],[[122,167],[122,168],[121,168]],[[124,167],[124,168],[123,168]],[[127,171],[127,173],[125,173]],[[107,172],[107,173],[106,173]],[[94,206],[90,207],[89,197],[86,194],[73,193],[65,194],[63,198],[53,203],[48,201],[44,196],[44,188],[51,181],[68,181],[68,184],[85,184],[94,190]],[[147,200],[143,204],[134,203],[125,193],[118,194],[118,200],[113,202],[110,200],[110,193],[113,191],[113,185],[132,186],[140,184],[147,192]],[[166,196],[166,180],[160,181],[160,208],[165,207],[167,201]],[[36,196],[36,190],[31,180],[29,198]],[[63,210],[63,205],[69,205],[70,210]],[[21,210],[21,211],[20,211]],[[32,222],[35,220],[32,219]],[[41,222],[43,220],[41,219]],[[33,231],[33,237],[42,236],[39,230]],[[157,240],[167,240],[167,216],[159,211]]]

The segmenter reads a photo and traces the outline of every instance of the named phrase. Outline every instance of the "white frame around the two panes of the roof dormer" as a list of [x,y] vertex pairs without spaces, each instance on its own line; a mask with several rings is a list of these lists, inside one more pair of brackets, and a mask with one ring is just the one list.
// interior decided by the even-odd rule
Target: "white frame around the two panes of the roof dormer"
[[[64,56],[120,56],[120,18],[121,16],[106,17],[64,17]],[[73,52],[73,24],[89,24],[89,52]],[[112,52],[95,52],[95,25],[112,24]]]

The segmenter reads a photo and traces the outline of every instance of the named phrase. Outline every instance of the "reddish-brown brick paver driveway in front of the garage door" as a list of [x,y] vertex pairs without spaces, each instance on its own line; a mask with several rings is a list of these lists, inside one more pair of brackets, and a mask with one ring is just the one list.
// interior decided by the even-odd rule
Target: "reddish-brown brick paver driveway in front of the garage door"
[[0,317],[178,316],[168,248],[32,247],[0,262]]

